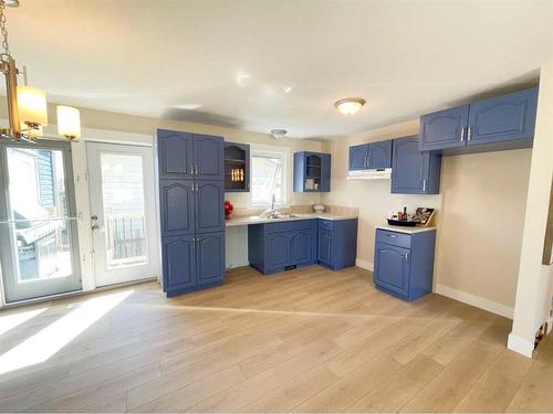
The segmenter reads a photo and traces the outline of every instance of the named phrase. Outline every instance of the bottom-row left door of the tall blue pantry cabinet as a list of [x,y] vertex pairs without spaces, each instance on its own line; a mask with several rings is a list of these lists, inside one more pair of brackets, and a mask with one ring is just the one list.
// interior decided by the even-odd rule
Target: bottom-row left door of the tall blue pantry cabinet
[[164,290],[196,286],[194,236],[163,237]]

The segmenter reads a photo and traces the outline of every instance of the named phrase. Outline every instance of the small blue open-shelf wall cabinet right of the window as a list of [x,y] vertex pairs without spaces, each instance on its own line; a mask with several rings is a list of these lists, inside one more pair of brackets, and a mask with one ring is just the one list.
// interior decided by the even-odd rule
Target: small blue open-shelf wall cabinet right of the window
[[331,191],[331,155],[321,152],[294,153],[294,191]]

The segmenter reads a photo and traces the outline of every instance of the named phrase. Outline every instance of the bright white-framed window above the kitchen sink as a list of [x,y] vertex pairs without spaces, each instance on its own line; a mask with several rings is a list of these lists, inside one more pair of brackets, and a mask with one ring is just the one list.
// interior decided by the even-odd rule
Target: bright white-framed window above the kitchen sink
[[250,203],[269,205],[272,195],[278,205],[285,205],[286,200],[286,152],[252,151]]

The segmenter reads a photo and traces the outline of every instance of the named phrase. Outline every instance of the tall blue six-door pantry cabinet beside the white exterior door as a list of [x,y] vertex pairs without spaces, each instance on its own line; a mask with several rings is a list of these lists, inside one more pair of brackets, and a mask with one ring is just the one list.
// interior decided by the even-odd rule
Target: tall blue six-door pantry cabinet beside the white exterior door
[[175,296],[225,277],[223,140],[157,130],[164,291]]

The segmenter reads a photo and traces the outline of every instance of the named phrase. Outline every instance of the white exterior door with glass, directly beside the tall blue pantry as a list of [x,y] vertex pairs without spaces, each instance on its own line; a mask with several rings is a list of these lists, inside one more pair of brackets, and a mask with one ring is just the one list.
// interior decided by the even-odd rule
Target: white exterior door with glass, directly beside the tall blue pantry
[[96,286],[158,275],[153,148],[86,144]]

